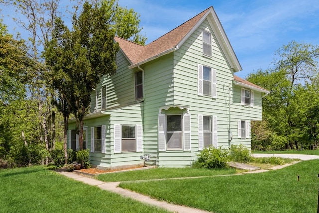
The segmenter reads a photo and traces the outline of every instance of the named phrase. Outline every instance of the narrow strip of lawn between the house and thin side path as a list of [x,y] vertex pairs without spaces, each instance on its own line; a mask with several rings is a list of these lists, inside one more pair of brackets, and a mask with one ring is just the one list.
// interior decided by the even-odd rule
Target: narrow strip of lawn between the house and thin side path
[[232,168],[214,170],[193,168],[152,168],[147,170],[135,170],[121,173],[106,173],[99,175],[97,179],[105,182],[136,181],[180,177],[216,176],[235,173],[236,170]]

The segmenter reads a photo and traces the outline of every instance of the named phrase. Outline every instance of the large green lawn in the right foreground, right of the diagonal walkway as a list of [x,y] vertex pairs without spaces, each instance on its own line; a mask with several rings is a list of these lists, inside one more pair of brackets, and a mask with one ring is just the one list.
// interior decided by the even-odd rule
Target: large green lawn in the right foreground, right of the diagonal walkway
[[319,160],[310,160],[265,173],[123,182],[120,187],[215,213],[310,213],[317,210],[318,173]]

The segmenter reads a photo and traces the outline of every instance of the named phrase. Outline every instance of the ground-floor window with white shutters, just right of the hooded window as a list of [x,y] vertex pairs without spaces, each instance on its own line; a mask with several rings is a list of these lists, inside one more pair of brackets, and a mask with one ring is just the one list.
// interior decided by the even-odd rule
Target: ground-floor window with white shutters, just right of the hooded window
[[198,149],[218,146],[217,116],[198,115]]

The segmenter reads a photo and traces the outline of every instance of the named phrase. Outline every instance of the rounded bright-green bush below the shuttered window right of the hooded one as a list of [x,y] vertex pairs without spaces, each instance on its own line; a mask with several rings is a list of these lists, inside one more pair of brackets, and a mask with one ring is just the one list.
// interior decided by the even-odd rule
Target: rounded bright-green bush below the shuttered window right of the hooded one
[[197,157],[197,161],[193,164],[195,168],[213,169],[227,167],[228,152],[227,150],[222,150],[221,147],[210,146],[204,148]]

